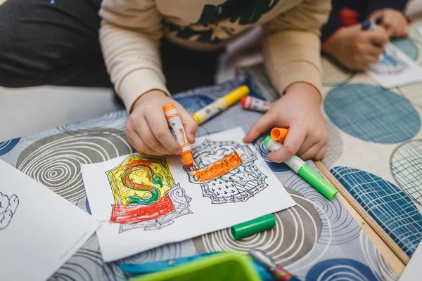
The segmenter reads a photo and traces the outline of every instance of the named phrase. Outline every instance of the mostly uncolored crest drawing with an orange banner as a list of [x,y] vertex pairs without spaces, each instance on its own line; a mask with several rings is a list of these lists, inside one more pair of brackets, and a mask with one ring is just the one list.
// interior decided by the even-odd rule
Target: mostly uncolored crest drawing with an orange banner
[[184,166],[191,183],[198,183],[212,204],[246,202],[267,187],[248,145],[206,139],[193,148],[193,167]]

